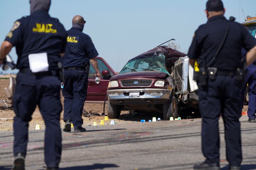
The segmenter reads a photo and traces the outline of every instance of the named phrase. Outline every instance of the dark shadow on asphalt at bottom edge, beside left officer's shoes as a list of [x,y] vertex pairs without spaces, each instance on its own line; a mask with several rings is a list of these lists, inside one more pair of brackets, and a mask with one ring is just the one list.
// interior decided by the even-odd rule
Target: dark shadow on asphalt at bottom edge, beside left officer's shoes
[[104,168],[114,168],[119,167],[116,164],[93,164],[87,166],[71,166],[66,168],[60,168],[60,170],[93,170],[93,169],[104,169]]

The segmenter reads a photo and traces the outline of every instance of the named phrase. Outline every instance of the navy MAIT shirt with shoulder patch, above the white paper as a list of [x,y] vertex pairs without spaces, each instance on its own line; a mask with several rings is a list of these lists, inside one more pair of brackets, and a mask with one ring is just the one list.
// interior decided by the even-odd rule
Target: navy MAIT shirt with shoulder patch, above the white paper
[[47,11],[35,11],[30,16],[18,19],[5,41],[16,47],[17,68],[29,69],[29,54],[47,53],[49,70],[58,70],[60,53],[65,52],[66,30],[57,18]]

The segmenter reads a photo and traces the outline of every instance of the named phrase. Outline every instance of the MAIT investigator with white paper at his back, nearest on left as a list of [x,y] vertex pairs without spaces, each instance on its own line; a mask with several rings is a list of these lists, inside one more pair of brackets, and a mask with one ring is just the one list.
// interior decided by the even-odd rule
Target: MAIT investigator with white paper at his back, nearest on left
[[14,170],[25,169],[28,122],[36,105],[45,122],[44,161],[58,169],[61,155],[60,80],[57,63],[64,55],[67,34],[57,18],[48,14],[50,0],[30,0],[31,15],[18,19],[1,46],[0,63],[16,47],[16,89],[13,97]]

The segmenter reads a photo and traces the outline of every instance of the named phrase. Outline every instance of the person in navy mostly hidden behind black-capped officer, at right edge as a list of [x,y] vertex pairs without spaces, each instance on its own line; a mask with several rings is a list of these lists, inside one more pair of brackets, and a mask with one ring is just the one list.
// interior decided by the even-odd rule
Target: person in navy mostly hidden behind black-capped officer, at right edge
[[[254,39],[256,41],[256,38]],[[244,58],[247,54],[247,51],[243,48],[242,49],[242,58]],[[247,115],[249,117],[249,123],[255,123],[256,118],[256,61],[254,61],[251,65],[246,68],[246,76],[245,81],[243,84],[243,88],[241,91],[241,108],[243,109],[244,106],[244,93],[246,90],[246,86],[248,84],[248,95],[249,95],[249,102],[248,102],[248,111]]]

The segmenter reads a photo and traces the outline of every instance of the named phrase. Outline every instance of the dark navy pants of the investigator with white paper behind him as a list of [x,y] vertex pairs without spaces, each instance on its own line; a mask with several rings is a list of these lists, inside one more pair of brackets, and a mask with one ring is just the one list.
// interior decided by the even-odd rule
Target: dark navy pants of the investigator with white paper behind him
[[60,81],[53,76],[35,76],[18,73],[13,96],[16,114],[13,122],[14,156],[26,155],[28,144],[28,122],[32,119],[36,105],[45,122],[44,161],[47,167],[58,167],[61,155],[60,131]]

